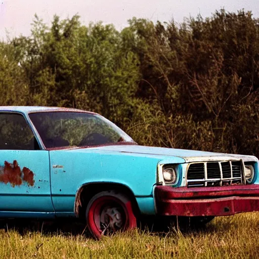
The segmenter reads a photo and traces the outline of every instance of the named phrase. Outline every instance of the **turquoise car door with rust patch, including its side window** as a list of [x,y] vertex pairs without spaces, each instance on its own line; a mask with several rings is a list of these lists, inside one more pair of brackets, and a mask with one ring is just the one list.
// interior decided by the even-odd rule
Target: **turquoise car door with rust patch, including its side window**
[[49,152],[40,150],[21,113],[0,112],[0,217],[53,212]]

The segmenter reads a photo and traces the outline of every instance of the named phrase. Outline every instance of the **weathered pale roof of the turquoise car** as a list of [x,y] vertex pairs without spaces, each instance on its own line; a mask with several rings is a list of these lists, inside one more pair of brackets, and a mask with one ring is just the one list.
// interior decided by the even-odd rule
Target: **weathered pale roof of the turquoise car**
[[67,111],[67,112],[85,112],[85,113],[97,114],[95,112],[84,111],[84,110],[79,110],[74,108],[50,107],[50,106],[0,106],[0,111],[15,111],[15,112],[21,112],[21,113]]

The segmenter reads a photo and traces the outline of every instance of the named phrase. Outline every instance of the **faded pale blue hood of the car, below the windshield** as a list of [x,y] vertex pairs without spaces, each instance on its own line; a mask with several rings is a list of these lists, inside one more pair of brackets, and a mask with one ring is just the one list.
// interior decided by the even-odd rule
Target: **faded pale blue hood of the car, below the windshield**
[[112,145],[112,146],[100,146],[93,148],[86,148],[81,150],[100,150],[108,152],[121,152],[121,153],[134,153],[134,154],[147,154],[169,157],[181,157],[185,162],[198,162],[198,161],[219,161],[219,160],[240,160],[244,161],[256,161],[256,157],[247,155],[235,155],[216,152],[205,152],[198,150],[185,150],[175,148],[160,148],[160,147],[148,147],[139,145]]

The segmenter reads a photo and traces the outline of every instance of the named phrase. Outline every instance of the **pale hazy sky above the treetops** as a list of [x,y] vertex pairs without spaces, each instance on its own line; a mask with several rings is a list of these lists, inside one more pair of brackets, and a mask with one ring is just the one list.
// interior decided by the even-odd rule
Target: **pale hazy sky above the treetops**
[[28,35],[30,23],[36,13],[50,24],[53,15],[61,18],[78,14],[83,24],[90,21],[113,23],[117,29],[127,25],[127,20],[136,16],[152,21],[169,21],[172,18],[182,22],[184,17],[210,16],[215,10],[225,8],[236,12],[244,8],[259,17],[259,0],[0,0],[0,38]]

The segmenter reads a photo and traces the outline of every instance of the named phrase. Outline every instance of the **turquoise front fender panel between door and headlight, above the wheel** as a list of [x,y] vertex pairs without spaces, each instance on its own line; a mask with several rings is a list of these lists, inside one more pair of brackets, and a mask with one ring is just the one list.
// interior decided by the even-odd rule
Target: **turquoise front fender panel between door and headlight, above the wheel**
[[102,148],[50,151],[50,159],[51,165],[64,166],[62,169],[51,167],[55,211],[73,208],[72,199],[67,203],[60,195],[74,195],[86,183],[118,183],[137,196],[150,196],[159,161],[152,155],[106,152]]

